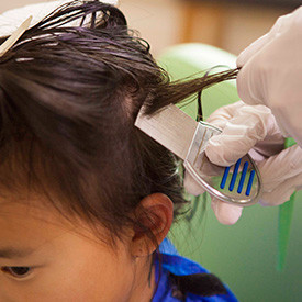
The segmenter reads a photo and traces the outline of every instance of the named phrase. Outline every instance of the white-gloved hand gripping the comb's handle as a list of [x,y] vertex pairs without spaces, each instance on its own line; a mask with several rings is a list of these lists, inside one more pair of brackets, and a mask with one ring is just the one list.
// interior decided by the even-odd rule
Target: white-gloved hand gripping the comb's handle
[[[256,161],[264,183],[261,205],[281,204],[302,189],[302,149],[298,145],[283,149],[284,138],[269,108],[238,101],[220,108],[206,122],[223,130],[205,148],[212,163],[231,166],[247,153]],[[184,188],[194,195],[204,192],[187,171]],[[223,224],[236,223],[243,210],[213,197],[211,206]]]

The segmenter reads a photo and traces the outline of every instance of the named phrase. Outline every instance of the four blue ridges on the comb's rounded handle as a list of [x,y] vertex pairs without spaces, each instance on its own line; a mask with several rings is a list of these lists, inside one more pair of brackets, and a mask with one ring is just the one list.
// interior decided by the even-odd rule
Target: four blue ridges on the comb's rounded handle
[[[237,176],[238,176],[241,163],[242,163],[242,158],[238,159],[236,161],[236,164],[235,164],[234,171],[233,171],[233,175],[232,175],[232,179],[231,179],[230,186],[228,186],[228,191],[231,191],[231,192],[235,188],[235,183],[236,183],[236,179],[237,179]],[[243,166],[243,170],[242,170],[242,176],[241,176],[239,184],[238,184],[238,188],[237,188],[237,193],[238,194],[241,194],[242,191],[243,191],[243,188],[244,188],[244,184],[245,184],[245,180],[246,180],[246,176],[247,176],[247,168],[248,168],[248,161],[245,161],[244,166]],[[224,189],[224,187],[225,187],[230,169],[231,169],[231,167],[225,167],[225,169],[224,169],[223,178],[222,178],[222,181],[221,181],[221,184],[220,184],[221,189]],[[251,190],[254,178],[255,178],[255,170],[250,170],[248,182],[247,182],[247,187],[246,187],[246,191],[245,191],[245,194],[247,197],[250,194],[250,190]]]

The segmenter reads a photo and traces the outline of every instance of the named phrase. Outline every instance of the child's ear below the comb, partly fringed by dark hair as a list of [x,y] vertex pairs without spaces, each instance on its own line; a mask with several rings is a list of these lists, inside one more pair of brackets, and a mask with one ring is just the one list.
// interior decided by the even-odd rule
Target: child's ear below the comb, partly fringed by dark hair
[[[135,211],[135,219],[155,236],[158,245],[167,236],[174,219],[174,203],[163,193],[145,197]],[[156,244],[142,227],[134,227],[131,253],[134,257],[150,255]]]

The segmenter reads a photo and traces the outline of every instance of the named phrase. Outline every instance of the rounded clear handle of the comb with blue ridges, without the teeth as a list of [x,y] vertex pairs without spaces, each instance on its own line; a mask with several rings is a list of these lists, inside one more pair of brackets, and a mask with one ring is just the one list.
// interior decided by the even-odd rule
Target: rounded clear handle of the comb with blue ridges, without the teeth
[[205,156],[208,141],[222,131],[209,123],[199,122],[183,166],[204,190],[217,199],[242,206],[259,199],[261,179],[257,166],[247,154],[230,167],[212,164]]

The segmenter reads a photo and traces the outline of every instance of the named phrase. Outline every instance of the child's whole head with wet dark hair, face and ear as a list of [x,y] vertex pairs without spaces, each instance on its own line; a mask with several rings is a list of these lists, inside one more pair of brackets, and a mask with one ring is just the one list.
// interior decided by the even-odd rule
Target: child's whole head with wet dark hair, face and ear
[[177,158],[134,121],[222,79],[169,82],[98,1],[27,30],[0,58],[0,250],[33,251],[0,255],[0,301],[148,301],[186,200]]

